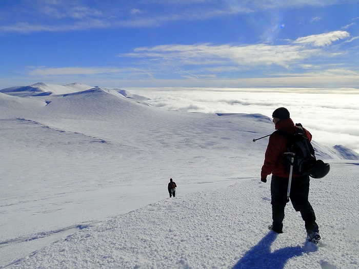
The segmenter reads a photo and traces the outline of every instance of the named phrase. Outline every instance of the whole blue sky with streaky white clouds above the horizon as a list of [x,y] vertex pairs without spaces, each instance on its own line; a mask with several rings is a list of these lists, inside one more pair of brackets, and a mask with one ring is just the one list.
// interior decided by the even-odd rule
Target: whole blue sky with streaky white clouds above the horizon
[[358,88],[359,1],[0,0],[0,88]]

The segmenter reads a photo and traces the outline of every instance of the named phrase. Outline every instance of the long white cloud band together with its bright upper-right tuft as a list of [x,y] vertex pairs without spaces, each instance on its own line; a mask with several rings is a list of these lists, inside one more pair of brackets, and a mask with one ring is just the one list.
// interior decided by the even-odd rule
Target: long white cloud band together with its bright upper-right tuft
[[323,53],[319,47],[329,46],[334,41],[349,36],[350,34],[346,31],[334,31],[300,37],[287,45],[159,45],[135,48],[133,52],[119,56],[146,59],[147,61],[152,61],[152,64],[158,63],[161,65],[176,63],[177,66],[216,66],[216,68],[218,66],[232,68],[233,65],[246,68],[277,65],[289,68],[293,64],[298,65],[303,60],[314,58],[321,54],[330,55],[328,51]]

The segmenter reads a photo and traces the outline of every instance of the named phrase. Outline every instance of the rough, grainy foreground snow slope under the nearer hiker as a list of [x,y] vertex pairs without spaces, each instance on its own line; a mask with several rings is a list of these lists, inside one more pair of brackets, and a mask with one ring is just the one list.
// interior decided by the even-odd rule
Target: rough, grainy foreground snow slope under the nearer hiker
[[163,199],[90,225],[13,267],[357,268],[359,185],[343,176],[350,168],[338,164],[327,178],[312,180],[323,237],[318,246],[305,243],[304,223],[291,205],[284,234],[269,232],[269,184],[237,178],[226,188]]

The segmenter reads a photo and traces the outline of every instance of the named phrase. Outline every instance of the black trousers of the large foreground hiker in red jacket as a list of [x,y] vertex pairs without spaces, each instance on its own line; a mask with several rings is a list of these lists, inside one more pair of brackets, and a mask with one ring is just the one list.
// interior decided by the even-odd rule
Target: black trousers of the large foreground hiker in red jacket
[[[282,230],[284,209],[287,204],[288,178],[272,176],[271,180],[272,196],[272,218],[273,227]],[[305,222],[307,233],[318,232],[318,225],[315,222],[315,214],[308,201],[309,195],[309,176],[292,178],[290,200],[295,211],[299,211]]]

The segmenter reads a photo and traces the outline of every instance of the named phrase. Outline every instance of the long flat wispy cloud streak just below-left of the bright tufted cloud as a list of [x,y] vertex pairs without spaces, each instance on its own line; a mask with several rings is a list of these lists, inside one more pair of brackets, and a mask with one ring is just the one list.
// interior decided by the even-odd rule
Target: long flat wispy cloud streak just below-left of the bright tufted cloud
[[316,49],[303,50],[298,46],[265,44],[233,45],[161,45],[152,48],[136,48],[121,57],[147,58],[177,65],[239,65],[239,66],[288,66],[292,61],[315,55]]

